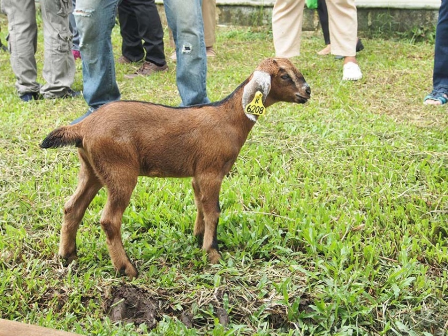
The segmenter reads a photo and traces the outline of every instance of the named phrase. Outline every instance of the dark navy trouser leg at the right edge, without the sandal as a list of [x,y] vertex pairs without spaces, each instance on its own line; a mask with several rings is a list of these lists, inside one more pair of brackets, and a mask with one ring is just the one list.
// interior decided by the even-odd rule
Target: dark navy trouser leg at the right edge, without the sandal
[[436,48],[434,55],[434,89],[448,90],[448,0],[442,0],[439,21],[436,28]]

